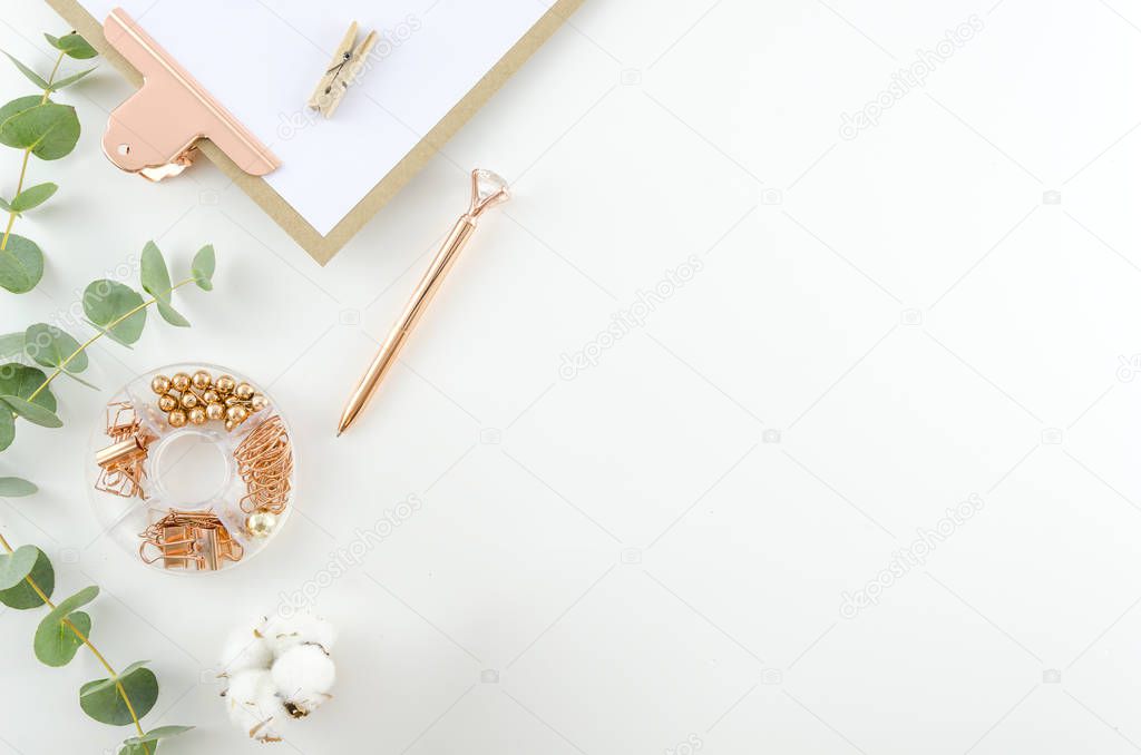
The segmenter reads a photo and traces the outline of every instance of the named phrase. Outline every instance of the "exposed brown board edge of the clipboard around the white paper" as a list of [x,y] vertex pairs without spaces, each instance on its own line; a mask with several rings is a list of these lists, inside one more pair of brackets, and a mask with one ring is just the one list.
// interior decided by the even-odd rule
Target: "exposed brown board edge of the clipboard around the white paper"
[[[210,140],[199,148],[211,162],[245,192],[274,221],[307,251],[319,265],[325,265],[353,238],[369,220],[396,196],[428,160],[499,91],[500,87],[582,6],[584,0],[557,0],[551,9],[496,63],[487,74],[369,192],[353,210],[322,236],[262,178],[241,170]],[[103,24],[79,5],[78,0],[47,0],[64,19],[74,26],[104,58],[136,87],[143,78],[103,34]]]

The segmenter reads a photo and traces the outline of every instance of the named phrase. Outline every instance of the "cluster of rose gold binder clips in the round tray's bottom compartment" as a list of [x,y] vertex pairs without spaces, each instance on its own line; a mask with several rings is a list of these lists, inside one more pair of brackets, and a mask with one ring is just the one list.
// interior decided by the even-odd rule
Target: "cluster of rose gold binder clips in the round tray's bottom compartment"
[[[217,571],[222,561],[241,561],[244,549],[217,514],[210,511],[171,509],[139,537],[139,558],[145,563],[162,561],[168,569]],[[147,553],[147,546],[153,553]]]

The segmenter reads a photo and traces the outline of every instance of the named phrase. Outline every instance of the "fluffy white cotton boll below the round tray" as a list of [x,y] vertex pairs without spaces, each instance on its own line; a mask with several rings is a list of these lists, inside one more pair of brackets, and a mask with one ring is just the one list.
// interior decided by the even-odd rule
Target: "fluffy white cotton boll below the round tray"
[[235,632],[224,650],[222,696],[234,725],[260,741],[281,741],[282,726],[332,698],[337,667],[332,624],[310,614],[261,618]]

